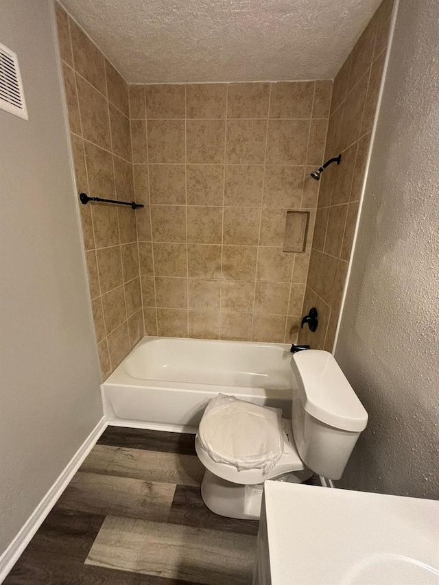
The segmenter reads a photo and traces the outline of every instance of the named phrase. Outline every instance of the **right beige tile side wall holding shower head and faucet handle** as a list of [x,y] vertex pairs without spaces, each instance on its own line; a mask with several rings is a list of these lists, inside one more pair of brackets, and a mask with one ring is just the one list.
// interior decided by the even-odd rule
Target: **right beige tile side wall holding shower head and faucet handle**
[[300,331],[301,343],[332,350],[375,112],[393,0],[385,0],[344,62],[333,86],[327,160],[342,153],[339,166],[322,174],[303,314],[317,307],[319,326]]

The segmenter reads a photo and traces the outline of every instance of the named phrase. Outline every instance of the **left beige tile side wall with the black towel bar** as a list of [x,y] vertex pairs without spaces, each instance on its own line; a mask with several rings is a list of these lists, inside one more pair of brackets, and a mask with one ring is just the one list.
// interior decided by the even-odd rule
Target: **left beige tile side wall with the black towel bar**
[[[56,5],[78,193],[132,201],[128,86]],[[143,335],[137,230],[131,208],[80,204],[103,377]]]

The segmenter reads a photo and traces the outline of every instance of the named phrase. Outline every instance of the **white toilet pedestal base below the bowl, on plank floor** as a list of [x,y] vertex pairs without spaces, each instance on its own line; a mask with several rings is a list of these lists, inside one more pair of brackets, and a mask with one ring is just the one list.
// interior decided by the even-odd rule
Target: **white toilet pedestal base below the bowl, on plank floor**
[[[270,481],[302,483],[313,475],[309,469],[284,473]],[[239,520],[259,520],[263,483],[252,486],[232,483],[218,477],[209,469],[204,472],[201,483],[201,497],[207,508],[218,516],[239,518]]]

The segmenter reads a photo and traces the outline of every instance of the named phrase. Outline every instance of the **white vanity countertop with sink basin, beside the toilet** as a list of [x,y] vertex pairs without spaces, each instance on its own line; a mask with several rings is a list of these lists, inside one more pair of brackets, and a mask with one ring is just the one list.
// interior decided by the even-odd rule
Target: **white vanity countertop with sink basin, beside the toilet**
[[263,583],[439,585],[439,501],[266,481],[264,502]]

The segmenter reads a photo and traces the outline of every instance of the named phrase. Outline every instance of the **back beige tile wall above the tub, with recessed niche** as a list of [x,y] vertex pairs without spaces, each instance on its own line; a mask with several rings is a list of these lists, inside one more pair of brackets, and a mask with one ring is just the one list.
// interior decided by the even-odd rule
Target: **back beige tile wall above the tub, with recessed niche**
[[[147,335],[296,340],[331,82],[130,86]],[[307,252],[283,252],[288,209]]]

